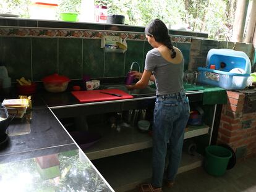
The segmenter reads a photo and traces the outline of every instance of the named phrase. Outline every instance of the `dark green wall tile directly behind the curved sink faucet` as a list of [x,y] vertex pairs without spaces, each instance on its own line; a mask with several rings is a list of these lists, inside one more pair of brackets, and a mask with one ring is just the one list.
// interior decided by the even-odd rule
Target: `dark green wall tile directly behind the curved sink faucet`
[[[132,62],[136,61],[140,65],[140,72],[143,72],[143,41],[127,41],[128,49],[126,51],[126,64],[124,73],[126,75],[130,70]],[[133,70],[139,70],[137,65],[134,65]]]

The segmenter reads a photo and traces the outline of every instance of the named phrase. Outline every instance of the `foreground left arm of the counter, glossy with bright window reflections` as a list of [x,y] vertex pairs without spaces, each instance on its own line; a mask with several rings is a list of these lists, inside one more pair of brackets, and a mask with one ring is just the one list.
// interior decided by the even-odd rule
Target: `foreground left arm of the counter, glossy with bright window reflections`
[[2,191],[113,191],[41,97],[9,125],[0,150]]

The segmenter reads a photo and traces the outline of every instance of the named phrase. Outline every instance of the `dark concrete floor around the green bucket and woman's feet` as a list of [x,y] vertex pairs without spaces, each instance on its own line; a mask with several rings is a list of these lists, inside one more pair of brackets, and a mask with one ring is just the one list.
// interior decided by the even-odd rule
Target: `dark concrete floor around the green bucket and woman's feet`
[[[137,190],[132,190],[132,192]],[[237,162],[221,177],[208,175],[203,167],[177,175],[173,188],[164,192],[256,192],[256,156]],[[131,192],[131,191],[130,191]]]

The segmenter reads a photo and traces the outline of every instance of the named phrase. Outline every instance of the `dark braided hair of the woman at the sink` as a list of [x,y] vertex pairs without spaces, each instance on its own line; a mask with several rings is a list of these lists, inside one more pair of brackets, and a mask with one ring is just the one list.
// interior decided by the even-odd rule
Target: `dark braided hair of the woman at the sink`
[[166,47],[171,50],[171,58],[176,57],[176,51],[171,44],[171,40],[168,33],[168,28],[160,19],[152,20],[145,27],[145,34],[148,36],[153,36],[158,43],[163,43]]

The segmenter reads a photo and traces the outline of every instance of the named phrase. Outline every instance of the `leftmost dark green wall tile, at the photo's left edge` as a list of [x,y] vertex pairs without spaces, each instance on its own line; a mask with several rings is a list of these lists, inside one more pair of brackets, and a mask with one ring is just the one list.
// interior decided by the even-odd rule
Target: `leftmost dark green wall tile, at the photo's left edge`
[[1,37],[0,61],[6,65],[12,81],[31,75],[31,46],[30,38]]

